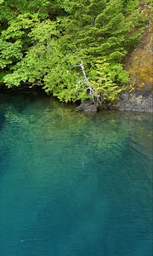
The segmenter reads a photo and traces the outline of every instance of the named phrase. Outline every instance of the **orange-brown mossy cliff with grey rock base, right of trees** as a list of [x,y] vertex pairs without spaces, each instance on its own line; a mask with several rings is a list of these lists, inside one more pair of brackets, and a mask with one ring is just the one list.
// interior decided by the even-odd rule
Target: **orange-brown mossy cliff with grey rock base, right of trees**
[[121,94],[121,102],[115,106],[121,110],[152,112],[153,24],[150,1],[141,1],[140,11],[146,15],[147,25],[139,46],[125,60],[131,83],[129,90]]

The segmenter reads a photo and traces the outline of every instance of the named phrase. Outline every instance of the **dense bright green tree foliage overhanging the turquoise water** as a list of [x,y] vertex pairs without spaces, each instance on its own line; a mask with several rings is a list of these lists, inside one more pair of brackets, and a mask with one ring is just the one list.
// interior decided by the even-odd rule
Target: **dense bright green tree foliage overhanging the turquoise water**
[[138,0],[0,3],[0,68],[8,87],[37,84],[65,102],[88,98],[88,83],[102,101],[124,90],[122,61],[143,32]]

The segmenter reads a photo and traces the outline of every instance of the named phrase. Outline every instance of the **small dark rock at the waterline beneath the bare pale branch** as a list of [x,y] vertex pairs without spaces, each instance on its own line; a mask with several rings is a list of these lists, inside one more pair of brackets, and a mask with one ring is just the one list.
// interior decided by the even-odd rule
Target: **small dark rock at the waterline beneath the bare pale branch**
[[84,101],[77,107],[77,111],[85,113],[97,113],[97,106],[93,101]]

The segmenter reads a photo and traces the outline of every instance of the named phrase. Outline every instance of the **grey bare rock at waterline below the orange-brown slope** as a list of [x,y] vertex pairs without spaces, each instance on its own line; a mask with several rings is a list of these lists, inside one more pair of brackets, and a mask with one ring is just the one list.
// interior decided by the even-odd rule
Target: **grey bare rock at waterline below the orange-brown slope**
[[[143,92],[143,93],[142,93]],[[119,110],[131,110],[139,112],[153,112],[153,97],[148,91],[122,92],[120,95],[121,102],[116,103],[113,108]]]

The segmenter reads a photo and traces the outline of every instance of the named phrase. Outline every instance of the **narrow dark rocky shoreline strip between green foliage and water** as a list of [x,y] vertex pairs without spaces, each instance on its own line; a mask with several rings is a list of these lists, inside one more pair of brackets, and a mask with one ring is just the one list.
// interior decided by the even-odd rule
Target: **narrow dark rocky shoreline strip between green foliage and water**
[[[25,95],[32,96],[47,96],[48,94],[42,90],[39,86],[32,86],[31,88],[27,84],[21,84],[20,87],[8,88],[4,84],[0,84],[0,93],[22,93]],[[50,95],[54,97],[53,95]],[[54,97],[57,101],[58,98]],[[66,105],[69,103],[65,103]],[[153,94],[150,88],[144,90],[133,90],[133,92],[125,91],[119,95],[117,102],[108,102],[104,105],[96,104],[92,101],[84,102],[71,102],[75,104],[76,110],[84,113],[97,113],[102,110],[118,110],[118,111],[131,111],[131,112],[142,112],[142,113],[153,113]]]

